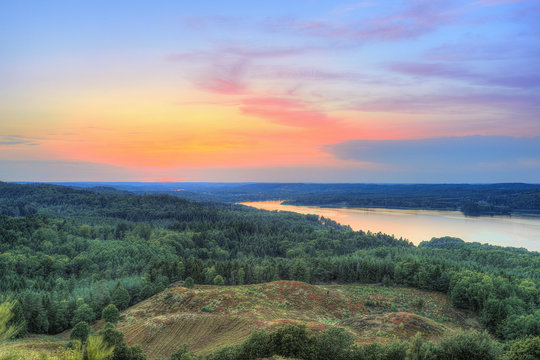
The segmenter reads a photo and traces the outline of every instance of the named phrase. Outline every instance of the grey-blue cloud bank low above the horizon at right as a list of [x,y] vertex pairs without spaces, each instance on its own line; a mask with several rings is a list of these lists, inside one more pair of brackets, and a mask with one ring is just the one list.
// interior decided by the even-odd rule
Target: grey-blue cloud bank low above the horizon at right
[[540,137],[352,140],[323,149],[341,160],[384,165],[400,174],[398,181],[540,181]]

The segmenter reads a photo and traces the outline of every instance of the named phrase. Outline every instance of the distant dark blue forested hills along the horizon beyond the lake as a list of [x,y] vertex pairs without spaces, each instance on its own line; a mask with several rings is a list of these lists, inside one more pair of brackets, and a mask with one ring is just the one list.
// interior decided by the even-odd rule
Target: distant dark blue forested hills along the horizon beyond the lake
[[[101,183],[66,183],[96,187]],[[292,205],[461,210],[466,215],[540,213],[540,185],[105,183],[137,194],[168,193],[198,201],[287,200]]]

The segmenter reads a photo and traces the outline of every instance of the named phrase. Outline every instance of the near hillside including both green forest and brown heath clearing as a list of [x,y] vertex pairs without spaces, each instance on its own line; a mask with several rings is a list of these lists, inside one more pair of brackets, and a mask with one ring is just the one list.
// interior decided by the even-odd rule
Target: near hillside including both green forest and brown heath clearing
[[[151,358],[290,323],[375,344],[478,327],[452,306],[499,341],[540,335],[540,254],[525,249],[448,237],[416,247],[315,215],[5,183],[0,240],[0,301],[17,300],[20,337],[99,327],[111,303],[132,306],[119,326]],[[167,288],[189,278],[194,290]],[[308,285],[322,283],[336,285]]]

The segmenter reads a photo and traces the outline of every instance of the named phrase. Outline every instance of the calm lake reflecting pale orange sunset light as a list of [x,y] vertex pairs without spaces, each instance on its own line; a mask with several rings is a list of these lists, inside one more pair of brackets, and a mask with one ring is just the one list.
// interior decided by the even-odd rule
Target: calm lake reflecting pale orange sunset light
[[539,216],[466,217],[459,211],[320,208],[283,205],[281,201],[245,202],[257,209],[316,214],[353,230],[383,232],[414,244],[432,237],[454,236],[501,246],[540,251]]

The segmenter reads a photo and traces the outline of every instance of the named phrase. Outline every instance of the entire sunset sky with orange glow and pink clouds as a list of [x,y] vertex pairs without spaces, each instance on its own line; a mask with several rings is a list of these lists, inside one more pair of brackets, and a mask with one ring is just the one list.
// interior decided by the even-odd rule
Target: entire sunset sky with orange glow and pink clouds
[[2,1],[0,181],[540,183],[540,2]]

